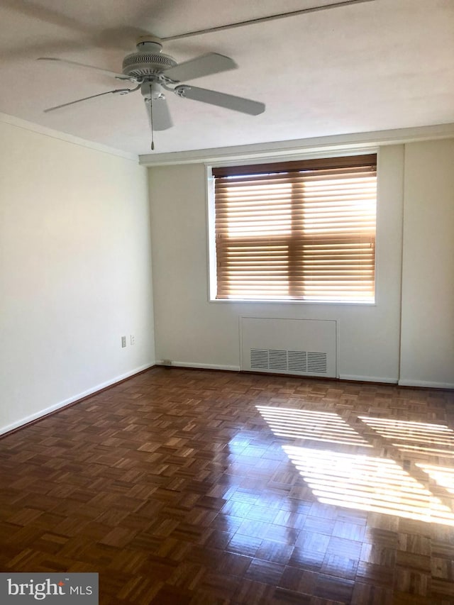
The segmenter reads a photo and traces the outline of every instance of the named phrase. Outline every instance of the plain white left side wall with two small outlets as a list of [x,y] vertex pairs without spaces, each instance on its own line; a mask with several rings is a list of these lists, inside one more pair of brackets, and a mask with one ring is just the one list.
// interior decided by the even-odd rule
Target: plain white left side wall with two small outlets
[[153,365],[146,170],[0,121],[0,292],[0,432]]

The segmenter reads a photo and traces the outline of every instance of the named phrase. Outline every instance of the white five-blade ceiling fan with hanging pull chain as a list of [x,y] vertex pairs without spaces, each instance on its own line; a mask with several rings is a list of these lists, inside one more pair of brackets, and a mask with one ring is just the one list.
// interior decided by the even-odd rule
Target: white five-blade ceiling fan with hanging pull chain
[[140,90],[152,128],[152,149],[154,149],[153,131],[165,131],[167,128],[173,126],[165,92],[173,92],[182,99],[193,99],[194,101],[201,101],[226,109],[232,109],[233,111],[248,113],[250,116],[258,116],[259,113],[265,111],[265,104],[259,101],[194,87],[192,84],[182,84],[182,82],[202,76],[236,69],[238,65],[230,57],[219,55],[216,52],[209,52],[195,59],[177,63],[170,55],[165,55],[162,52],[162,41],[154,35],[143,35],[138,38],[136,52],[126,55],[123,59],[121,74],[104,70],[101,67],[84,65],[83,63],[58,59],[56,57],[39,57],[38,60],[62,62],[74,67],[96,70],[118,80],[135,84],[133,88],[120,88],[92,94],[91,96],[85,96],[83,99],[76,99],[69,103],[49,107],[44,111],[48,113],[49,111],[62,109],[62,107],[94,99],[105,94],[123,95]]

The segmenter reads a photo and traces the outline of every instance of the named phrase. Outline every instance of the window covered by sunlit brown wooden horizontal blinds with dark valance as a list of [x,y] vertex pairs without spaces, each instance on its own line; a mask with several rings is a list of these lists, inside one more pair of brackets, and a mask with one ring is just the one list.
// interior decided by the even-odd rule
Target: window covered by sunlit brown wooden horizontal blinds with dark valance
[[212,172],[216,299],[374,301],[377,155]]

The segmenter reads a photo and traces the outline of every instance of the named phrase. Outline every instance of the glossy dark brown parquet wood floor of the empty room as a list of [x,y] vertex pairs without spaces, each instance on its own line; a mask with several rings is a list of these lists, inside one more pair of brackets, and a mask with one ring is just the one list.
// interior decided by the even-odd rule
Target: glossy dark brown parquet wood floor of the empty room
[[454,604],[454,394],[153,368],[0,440],[0,568],[102,605]]

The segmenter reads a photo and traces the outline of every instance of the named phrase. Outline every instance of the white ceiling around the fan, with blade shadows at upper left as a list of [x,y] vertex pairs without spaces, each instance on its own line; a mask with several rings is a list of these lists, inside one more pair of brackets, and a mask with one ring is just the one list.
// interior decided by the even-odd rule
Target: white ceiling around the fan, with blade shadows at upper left
[[[338,1],[338,0],[337,0]],[[161,37],[336,0],[0,0],[0,111],[135,154],[150,153],[140,91],[52,113],[123,87],[60,57],[121,72],[144,33]],[[164,43],[181,62],[206,52],[238,70],[194,85],[266,104],[247,116],[167,95],[174,127],[156,152],[454,122],[454,0],[372,0]]]

